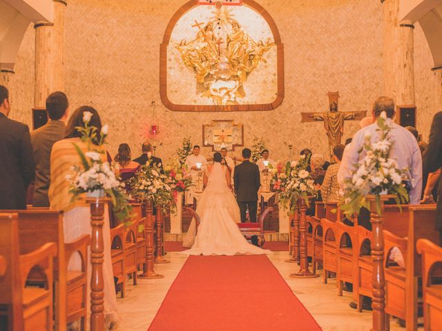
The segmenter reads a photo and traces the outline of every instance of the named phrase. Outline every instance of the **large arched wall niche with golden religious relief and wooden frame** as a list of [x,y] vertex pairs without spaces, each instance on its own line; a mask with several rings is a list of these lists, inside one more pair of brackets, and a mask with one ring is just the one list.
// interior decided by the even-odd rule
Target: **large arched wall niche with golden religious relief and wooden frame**
[[189,1],[164,34],[164,106],[189,112],[278,107],[284,97],[283,45],[269,13],[253,0],[202,2],[214,6]]

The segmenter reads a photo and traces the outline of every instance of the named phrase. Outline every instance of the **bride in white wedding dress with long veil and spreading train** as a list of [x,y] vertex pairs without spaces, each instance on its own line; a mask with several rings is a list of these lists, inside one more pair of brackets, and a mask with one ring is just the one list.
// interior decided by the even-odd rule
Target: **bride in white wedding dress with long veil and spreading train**
[[240,208],[229,189],[231,177],[227,167],[221,165],[222,156],[213,155],[213,165],[207,167],[204,174],[206,188],[198,201],[197,214],[201,223],[195,237],[195,220],[192,220],[189,232],[184,238],[184,247],[190,247],[182,254],[188,255],[236,255],[236,254],[271,254],[247,242],[238,228]]

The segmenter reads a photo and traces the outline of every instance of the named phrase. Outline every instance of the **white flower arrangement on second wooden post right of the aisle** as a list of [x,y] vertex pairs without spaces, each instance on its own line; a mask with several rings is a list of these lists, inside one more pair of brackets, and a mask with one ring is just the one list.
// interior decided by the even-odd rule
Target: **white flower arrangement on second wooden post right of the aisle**
[[278,192],[279,199],[284,205],[288,205],[289,211],[294,212],[296,203],[300,197],[309,205],[309,196],[316,195],[314,180],[311,179],[307,166],[308,158],[301,155],[298,161],[285,164],[278,162],[276,167],[271,167],[271,189]]

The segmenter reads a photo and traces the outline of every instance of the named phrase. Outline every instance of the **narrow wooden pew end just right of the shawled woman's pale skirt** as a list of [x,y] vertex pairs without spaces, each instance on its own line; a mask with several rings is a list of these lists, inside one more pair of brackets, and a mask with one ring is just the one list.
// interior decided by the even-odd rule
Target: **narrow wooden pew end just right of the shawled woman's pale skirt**
[[117,279],[115,285],[121,284],[122,298],[124,298],[125,279],[124,273],[124,224],[111,229],[111,259],[113,277]]

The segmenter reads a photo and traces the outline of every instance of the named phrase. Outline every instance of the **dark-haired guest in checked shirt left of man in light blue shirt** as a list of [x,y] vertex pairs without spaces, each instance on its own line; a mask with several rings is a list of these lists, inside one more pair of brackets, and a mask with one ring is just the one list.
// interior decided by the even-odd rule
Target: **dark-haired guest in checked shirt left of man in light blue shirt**
[[325,172],[323,185],[320,186],[320,193],[325,203],[338,203],[340,201],[337,174],[340,160],[343,159],[344,148],[345,146],[342,144],[333,148],[333,157],[336,163],[329,166],[327,172]]

